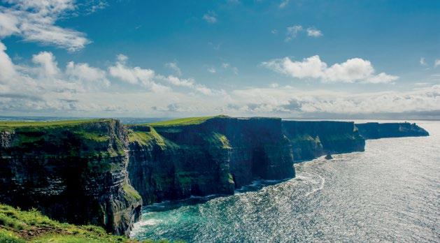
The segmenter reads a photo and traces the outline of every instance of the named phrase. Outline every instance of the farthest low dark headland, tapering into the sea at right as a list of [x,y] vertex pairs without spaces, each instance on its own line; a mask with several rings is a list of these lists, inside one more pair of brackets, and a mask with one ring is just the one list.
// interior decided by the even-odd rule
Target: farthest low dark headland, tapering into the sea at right
[[365,139],[420,137],[430,135],[425,129],[415,123],[378,123],[368,122],[356,124],[360,135]]

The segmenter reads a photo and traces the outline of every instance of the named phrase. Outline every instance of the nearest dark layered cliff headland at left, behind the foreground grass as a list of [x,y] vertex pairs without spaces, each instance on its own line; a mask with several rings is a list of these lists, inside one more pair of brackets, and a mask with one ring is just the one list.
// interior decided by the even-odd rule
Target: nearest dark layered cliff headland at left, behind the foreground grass
[[127,176],[127,130],[114,119],[0,131],[0,201],[59,221],[128,233],[142,200]]

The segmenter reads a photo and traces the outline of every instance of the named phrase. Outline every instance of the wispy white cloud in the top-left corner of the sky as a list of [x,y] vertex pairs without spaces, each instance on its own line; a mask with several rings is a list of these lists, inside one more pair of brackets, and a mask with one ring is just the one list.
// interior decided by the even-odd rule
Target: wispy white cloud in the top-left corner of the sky
[[0,38],[21,36],[24,40],[57,45],[69,51],[90,43],[85,34],[58,27],[55,22],[75,9],[73,0],[8,0],[10,8],[0,6]]

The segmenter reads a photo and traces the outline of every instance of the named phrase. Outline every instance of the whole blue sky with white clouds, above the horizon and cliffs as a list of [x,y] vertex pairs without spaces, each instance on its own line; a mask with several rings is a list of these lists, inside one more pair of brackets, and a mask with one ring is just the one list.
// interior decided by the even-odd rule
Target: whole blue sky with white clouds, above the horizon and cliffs
[[440,1],[0,0],[0,116],[440,119]]

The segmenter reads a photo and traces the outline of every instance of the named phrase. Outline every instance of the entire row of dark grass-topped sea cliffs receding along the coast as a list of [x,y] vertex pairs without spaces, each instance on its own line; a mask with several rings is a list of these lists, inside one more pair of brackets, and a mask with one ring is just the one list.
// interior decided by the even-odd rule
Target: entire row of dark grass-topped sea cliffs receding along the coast
[[[427,135],[416,124],[196,117],[0,124],[0,203],[128,234],[141,205],[230,195],[293,163],[364,151],[365,139]],[[331,156],[329,156],[330,158]]]

